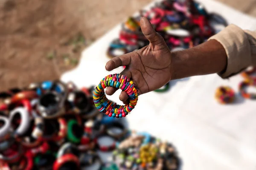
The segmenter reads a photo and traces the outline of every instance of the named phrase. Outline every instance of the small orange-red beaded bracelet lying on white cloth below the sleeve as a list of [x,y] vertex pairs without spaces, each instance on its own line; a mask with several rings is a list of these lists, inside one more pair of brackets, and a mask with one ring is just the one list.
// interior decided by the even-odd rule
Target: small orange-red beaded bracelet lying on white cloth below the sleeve
[[232,103],[235,100],[235,92],[228,86],[221,86],[215,91],[215,99],[221,104]]

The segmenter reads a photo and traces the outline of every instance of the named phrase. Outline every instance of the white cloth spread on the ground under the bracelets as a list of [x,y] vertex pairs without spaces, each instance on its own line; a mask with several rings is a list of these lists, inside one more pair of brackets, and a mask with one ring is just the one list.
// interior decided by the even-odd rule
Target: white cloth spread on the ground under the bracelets
[[[203,3],[207,11],[220,14],[229,24],[256,29],[253,17],[213,0],[197,1]],[[105,70],[109,60],[106,51],[120,29],[121,24],[84,50],[78,67],[65,73],[61,80],[73,81],[79,87],[96,86],[108,74],[120,73],[122,67],[111,72]],[[256,101],[243,99],[239,94],[232,105],[220,105],[214,99],[218,86],[229,85],[238,92],[241,80],[240,75],[223,80],[211,74],[171,81],[166,93],[139,96],[135,109],[125,119],[131,129],[147,131],[173,143],[181,158],[182,170],[254,170]],[[108,99],[122,104],[119,94],[120,90]]]

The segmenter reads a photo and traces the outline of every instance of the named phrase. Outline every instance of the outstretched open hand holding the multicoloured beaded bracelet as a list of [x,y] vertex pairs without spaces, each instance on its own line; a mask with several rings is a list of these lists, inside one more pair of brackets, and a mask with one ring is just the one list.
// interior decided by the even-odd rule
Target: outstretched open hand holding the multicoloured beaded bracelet
[[[105,68],[111,71],[120,66],[126,66],[120,73],[132,79],[139,89],[139,94],[145,94],[163,87],[172,77],[172,59],[163,37],[156,33],[146,17],[140,20],[143,34],[149,40],[149,45],[128,54],[114,57],[107,62]],[[117,88],[108,87],[106,94],[112,95]],[[127,103],[128,94],[122,92],[119,99]]]

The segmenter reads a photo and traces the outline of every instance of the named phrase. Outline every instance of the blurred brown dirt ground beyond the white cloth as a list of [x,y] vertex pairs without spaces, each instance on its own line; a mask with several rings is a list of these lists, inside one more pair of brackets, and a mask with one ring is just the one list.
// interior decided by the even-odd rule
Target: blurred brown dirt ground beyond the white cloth
[[[152,0],[1,0],[0,91],[58,79],[81,51]],[[219,0],[256,17],[255,0]]]

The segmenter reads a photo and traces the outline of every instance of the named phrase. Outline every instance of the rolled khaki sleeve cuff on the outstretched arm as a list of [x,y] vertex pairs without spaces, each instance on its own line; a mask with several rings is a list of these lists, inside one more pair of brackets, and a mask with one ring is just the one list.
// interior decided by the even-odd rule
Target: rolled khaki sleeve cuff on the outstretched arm
[[231,24],[209,40],[220,42],[227,54],[227,67],[218,73],[220,77],[229,78],[249,66],[256,66],[256,31],[244,31]]

